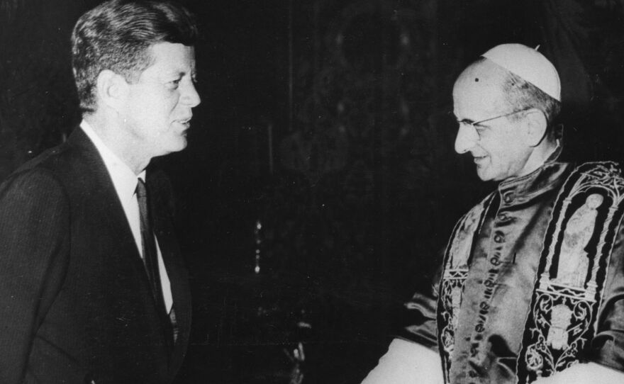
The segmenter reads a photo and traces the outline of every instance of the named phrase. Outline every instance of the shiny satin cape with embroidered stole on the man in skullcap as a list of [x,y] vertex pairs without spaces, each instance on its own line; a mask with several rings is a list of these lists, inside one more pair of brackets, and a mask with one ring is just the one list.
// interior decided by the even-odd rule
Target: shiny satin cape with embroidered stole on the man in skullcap
[[[583,193],[574,192],[582,184],[576,181],[588,179],[584,171],[600,173],[601,167],[608,169],[606,179],[594,177]],[[531,337],[540,332],[545,342],[537,349],[544,351],[542,346],[547,346],[555,351],[555,360],[567,364],[567,358],[560,357],[574,344],[574,361],[587,359],[624,371],[624,235],[619,227],[618,201],[606,192],[618,188],[614,186],[620,180],[618,171],[611,163],[585,164],[571,178],[573,169],[571,164],[550,162],[532,174],[500,183],[455,227],[445,269],[435,284],[437,305],[435,294],[417,294],[408,303],[418,322],[406,327],[403,337],[439,347],[447,383],[516,383],[517,373],[525,380],[521,382],[530,382],[537,375],[550,375],[547,364],[539,373],[533,368],[530,377],[525,374],[526,361],[535,367],[537,355],[533,352],[518,365],[520,352],[527,356],[523,345],[528,349],[535,344]],[[565,199],[557,200],[560,193],[575,197],[562,207]],[[550,225],[553,216],[555,224]],[[544,239],[553,241],[545,247]],[[546,265],[542,250],[569,256],[562,263],[551,256]],[[603,255],[597,263],[590,256],[594,254]],[[609,254],[611,258],[604,257]],[[590,275],[596,266],[600,268]],[[593,337],[585,333],[582,343],[569,337],[587,328],[575,320],[582,317],[579,309],[557,306],[561,300],[554,302],[547,315],[535,317],[540,332],[535,332],[536,327],[526,327],[525,332],[530,308],[535,308],[531,305],[533,293],[542,287],[538,271],[552,271],[550,281],[572,288],[591,281],[594,275],[602,281],[594,290],[596,295],[602,290],[601,300],[594,297],[596,305],[588,307],[589,312],[596,312],[586,321],[595,329]],[[431,334],[437,334],[437,345],[429,342]],[[555,369],[560,368],[563,366]]]

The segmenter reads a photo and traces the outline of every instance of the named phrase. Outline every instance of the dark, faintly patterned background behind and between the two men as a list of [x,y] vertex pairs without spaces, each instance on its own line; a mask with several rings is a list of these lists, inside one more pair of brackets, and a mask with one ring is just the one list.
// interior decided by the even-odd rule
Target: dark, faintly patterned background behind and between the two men
[[[69,35],[97,3],[0,0],[0,179],[79,123]],[[457,74],[498,43],[540,45],[564,155],[619,160],[623,3],[183,1],[202,103],[189,147],[157,159],[194,290],[178,382],[359,383],[493,187],[452,150]]]

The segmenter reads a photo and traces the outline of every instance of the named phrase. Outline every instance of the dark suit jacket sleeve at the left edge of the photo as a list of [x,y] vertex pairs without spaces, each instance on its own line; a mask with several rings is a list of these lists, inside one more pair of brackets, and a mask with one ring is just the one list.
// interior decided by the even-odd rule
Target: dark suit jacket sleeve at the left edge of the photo
[[69,204],[47,171],[0,186],[0,382],[21,383],[35,332],[62,284]]

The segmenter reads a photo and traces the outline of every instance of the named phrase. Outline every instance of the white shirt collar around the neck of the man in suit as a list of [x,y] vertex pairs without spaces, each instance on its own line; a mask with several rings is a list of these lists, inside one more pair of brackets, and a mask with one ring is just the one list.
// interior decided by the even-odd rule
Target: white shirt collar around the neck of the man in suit
[[119,199],[122,202],[126,202],[133,198],[137,185],[137,178],[140,177],[145,180],[145,170],[143,170],[140,174],[135,175],[126,163],[122,162],[110,148],[106,147],[104,141],[101,140],[87,121],[82,120],[80,128],[82,128],[91,142],[93,142],[102,160],[104,161],[104,165],[106,166],[108,174],[111,176],[113,186],[115,186],[115,191],[117,192]]

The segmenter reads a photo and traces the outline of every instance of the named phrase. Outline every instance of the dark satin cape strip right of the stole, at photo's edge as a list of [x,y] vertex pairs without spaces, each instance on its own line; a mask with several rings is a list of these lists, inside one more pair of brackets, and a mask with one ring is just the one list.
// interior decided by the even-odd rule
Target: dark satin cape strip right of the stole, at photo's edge
[[589,360],[624,371],[624,223],[615,237]]

